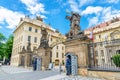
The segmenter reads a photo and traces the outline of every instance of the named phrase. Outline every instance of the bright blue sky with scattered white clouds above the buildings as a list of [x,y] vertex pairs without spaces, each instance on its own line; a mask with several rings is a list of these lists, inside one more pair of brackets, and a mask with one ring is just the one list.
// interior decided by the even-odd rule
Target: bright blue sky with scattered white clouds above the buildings
[[6,37],[13,33],[20,18],[41,16],[46,24],[66,34],[70,21],[67,11],[81,15],[82,30],[120,17],[120,0],[0,0],[0,33]]

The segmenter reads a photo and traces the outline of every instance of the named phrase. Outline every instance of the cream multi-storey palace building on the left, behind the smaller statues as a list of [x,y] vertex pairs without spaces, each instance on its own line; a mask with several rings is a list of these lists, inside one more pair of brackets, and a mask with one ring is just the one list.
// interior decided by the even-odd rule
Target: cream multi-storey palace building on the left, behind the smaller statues
[[[14,42],[11,55],[11,65],[12,66],[22,66],[25,65],[25,55],[20,56],[24,51],[30,52],[32,55],[35,53],[36,49],[39,48],[41,43],[41,29],[45,28],[48,35],[48,44],[52,48],[51,50],[51,62],[55,65],[64,62],[65,55],[65,45],[62,44],[65,41],[66,37],[59,33],[59,31],[51,28],[50,25],[47,25],[43,22],[41,17],[36,17],[35,19],[30,19],[28,16],[21,18],[19,24],[14,30]],[[30,42],[30,43],[29,43]],[[31,66],[32,59],[30,57]]]

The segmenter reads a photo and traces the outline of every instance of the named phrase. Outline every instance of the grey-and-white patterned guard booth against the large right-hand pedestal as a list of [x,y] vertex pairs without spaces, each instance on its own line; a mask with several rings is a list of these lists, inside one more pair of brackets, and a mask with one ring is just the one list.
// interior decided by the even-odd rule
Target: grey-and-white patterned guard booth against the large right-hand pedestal
[[66,57],[69,57],[71,60],[71,75],[78,75],[78,57],[73,53],[66,53]]

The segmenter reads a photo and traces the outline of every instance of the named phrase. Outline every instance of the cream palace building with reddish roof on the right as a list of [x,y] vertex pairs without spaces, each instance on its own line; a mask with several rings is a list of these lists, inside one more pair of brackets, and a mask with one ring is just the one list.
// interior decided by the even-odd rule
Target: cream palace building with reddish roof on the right
[[120,18],[88,28],[85,35],[93,38],[95,64],[114,66],[112,56],[120,54]]

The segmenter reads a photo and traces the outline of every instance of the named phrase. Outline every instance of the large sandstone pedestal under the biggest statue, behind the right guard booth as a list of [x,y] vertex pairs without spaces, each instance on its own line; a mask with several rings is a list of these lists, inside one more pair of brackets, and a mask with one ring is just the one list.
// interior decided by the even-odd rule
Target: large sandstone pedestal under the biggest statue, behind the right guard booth
[[81,75],[87,75],[88,43],[88,39],[82,40],[81,38],[71,39],[65,42],[66,53],[72,53],[77,56],[78,74]]

